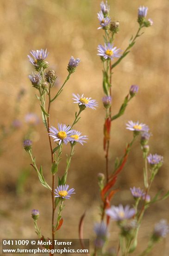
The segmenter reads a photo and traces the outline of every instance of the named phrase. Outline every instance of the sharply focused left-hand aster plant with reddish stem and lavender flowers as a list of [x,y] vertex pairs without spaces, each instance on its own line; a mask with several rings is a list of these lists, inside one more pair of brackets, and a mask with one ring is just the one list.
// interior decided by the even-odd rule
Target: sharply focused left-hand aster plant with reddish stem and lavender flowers
[[[51,184],[49,185],[44,177],[43,167],[40,168],[36,164],[36,158],[33,156],[32,148],[33,141],[30,141],[29,138],[25,139],[23,146],[25,151],[31,157],[31,166],[37,172],[38,179],[40,183],[51,193],[51,204],[52,204],[52,225],[51,225],[51,235],[52,239],[55,238],[56,231],[59,230],[63,224],[62,211],[65,206],[66,200],[71,199],[73,194],[75,194],[75,189],[69,189],[67,184],[68,171],[71,163],[72,156],[74,155],[75,145],[79,142],[81,145],[86,142],[88,136],[81,135],[80,131],[74,129],[75,124],[80,120],[80,114],[85,108],[95,109],[98,104],[95,100],[92,100],[90,97],[84,97],[82,94],[73,94],[74,103],[78,103],[79,111],[75,112],[75,120],[72,122],[72,125],[60,124],[58,122],[56,126],[50,125],[50,116],[51,116],[51,107],[52,103],[57,100],[57,97],[62,93],[63,87],[66,82],[69,80],[71,74],[73,74],[80,64],[80,59],[75,59],[71,56],[68,63],[68,76],[65,79],[61,88],[57,92],[52,92],[56,90],[54,88],[56,82],[56,72],[54,70],[47,70],[49,63],[47,61],[48,57],[47,49],[32,50],[31,55],[28,55],[28,59],[33,65],[35,72],[32,75],[29,75],[32,87],[36,90],[36,97],[40,101],[40,108],[42,112],[42,120],[44,122],[44,127],[46,129],[46,134],[49,139],[50,145],[50,155],[51,155]],[[54,95],[53,95],[54,94]],[[53,95],[53,96],[52,96]],[[37,116],[30,113],[26,115],[25,121],[29,124],[35,125],[38,122]],[[59,174],[59,163],[62,159],[63,147],[70,148],[70,155],[67,155],[67,166],[63,176]],[[57,183],[56,183],[57,176]],[[57,214],[56,214],[56,209]],[[43,238],[41,234],[41,229],[38,227],[37,220],[39,218],[39,211],[36,209],[32,210],[32,218],[34,221],[34,226],[36,233],[39,238]],[[54,248],[54,244],[52,248]]]

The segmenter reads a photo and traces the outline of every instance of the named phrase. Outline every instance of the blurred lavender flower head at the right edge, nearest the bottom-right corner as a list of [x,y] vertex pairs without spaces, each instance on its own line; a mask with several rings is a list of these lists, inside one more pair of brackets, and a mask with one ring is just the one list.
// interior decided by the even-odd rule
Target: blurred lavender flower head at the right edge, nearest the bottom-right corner
[[166,220],[161,220],[158,222],[155,227],[154,227],[154,232],[153,236],[156,239],[161,238],[161,237],[166,237],[167,234],[169,233],[169,224],[167,223]]

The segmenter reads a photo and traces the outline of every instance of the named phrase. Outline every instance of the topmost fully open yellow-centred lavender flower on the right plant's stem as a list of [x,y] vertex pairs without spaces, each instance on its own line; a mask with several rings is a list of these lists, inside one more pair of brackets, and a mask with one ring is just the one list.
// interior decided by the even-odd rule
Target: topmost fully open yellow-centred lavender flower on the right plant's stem
[[117,47],[113,47],[113,44],[111,43],[105,43],[105,46],[103,45],[98,45],[97,47],[98,49],[98,54],[101,57],[103,57],[104,59],[111,59],[113,60],[113,58],[119,58],[121,56],[121,54],[119,54],[121,52],[120,49],[117,49]]

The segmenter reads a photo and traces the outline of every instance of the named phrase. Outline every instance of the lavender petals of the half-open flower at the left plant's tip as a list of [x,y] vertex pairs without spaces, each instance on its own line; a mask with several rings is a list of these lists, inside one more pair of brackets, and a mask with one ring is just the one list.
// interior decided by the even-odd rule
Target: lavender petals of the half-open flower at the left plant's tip
[[33,58],[30,55],[27,55],[29,58],[29,61],[31,62],[31,64],[33,64],[34,66],[38,66],[38,61],[44,61],[48,54],[47,53],[47,49],[40,49],[40,50],[31,50],[31,55],[33,56]]

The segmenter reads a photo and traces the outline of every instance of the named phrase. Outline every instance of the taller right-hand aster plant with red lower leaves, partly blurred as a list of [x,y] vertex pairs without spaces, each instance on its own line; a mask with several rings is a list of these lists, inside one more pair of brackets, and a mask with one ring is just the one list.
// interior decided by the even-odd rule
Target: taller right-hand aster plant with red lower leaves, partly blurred
[[[169,196],[169,191],[160,197],[160,193],[151,199],[150,188],[154,181],[156,174],[163,165],[163,156],[161,155],[148,155],[150,147],[148,141],[151,133],[150,128],[139,121],[128,121],[126,129],[132,132],[133,138],[130,143],[127,143],[125,153],[121,158],[116,158],[114,168],[110,168],[109,155],[110,155],[110,140],[111,140],[111,126],[112,122],[122,116],[125,113],[128,103],[138,94],[138,85],[133,84],[129,88],[127,95],[123,103],[119,108],[119,112],[114,115],[112,111],[113,106],[113,91],[112,91],[112,75],[114,74],[114,68],[119,65],[121,61],[130,53],[131,48],[135,45],[137,39],[144,33],[142,30],[146,27],[153,25],[151,19],[147,19],[148,7],[138,7],[138,31],[134,36],[131,36],[129,45],[125,50],[122,50],[120,46],[117,46],[115,39],[119,33],[119,21],[113,21],[110,15],[110,7],[106,2],[101,1],[100,11],[97,14],[99,20],[98,29],[103,30],[103,43],[97,47],[100,61],[103,65],[103,106],[105,108],[105,121],[104,121],[104,134],[103,134],[103,149],[105,151],[105,175],[103,173],[98,174],[98,185],[100,189],[100,223],[94,226],[96,239],[94,240],[94,253],[93,256],[128,256],[137,249],[138,233],[140,230],[141,222],[146,209],[151,204],[166,199]],[[75,101],[80,103],[80,95],[75,97]],[[81,103],[82,104],[82,103]],[[143,168],[143,184],[141,188],[130,188],[131,195],[133,196],[133,205],[123,206],[121,203],[119,206],[111,206],[111,199],[113,195],[118,192],[119,189],[114,188],[119,173],[125,167],[125,163],[131,151],[133,143],[140,138],[140,146],[143,153],[144,168]],[[149,164],[149,166],[148,166]],[[112,171],[113,170],[113,171]],[[85,214],[81,217],[79,235],[83,238],[83,219]],[[119,227],[119,234],[117,237],[118,246],[113,249],[113,253],[110,253],[106,249],[108,243],[107,230],[110,225],[110,220],[115,222]],[[150,235],[150,241],[147,249],[143,251],[140,256],[147,255],[153,248],[154,244],[164,238],[169,233],[169,225],[166,220],[163,220],[156,224],[154,231]]]

